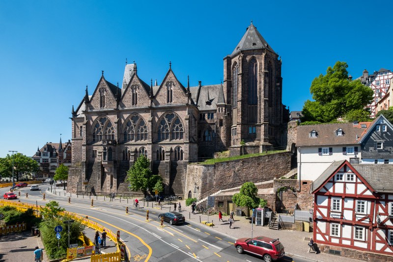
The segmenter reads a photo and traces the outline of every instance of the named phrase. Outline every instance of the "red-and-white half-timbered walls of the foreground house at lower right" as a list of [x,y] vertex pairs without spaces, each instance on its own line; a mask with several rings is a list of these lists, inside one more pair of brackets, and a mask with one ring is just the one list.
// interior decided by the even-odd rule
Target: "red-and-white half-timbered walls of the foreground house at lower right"
[[392,193],[376,192],[348,161],[313,193],[316,243],[393,256]]

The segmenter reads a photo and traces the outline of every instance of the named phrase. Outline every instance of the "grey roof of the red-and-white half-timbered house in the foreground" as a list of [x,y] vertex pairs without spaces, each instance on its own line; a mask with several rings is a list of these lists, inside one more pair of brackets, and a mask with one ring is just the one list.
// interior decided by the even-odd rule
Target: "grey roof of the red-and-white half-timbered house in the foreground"
[[[334,161],[312,184],[312,191],[325,183],[346,160]],[[348,165],[350,165],[348,163]],[[393,165],[352,164],[351,165],[377,192],[393,193]]]

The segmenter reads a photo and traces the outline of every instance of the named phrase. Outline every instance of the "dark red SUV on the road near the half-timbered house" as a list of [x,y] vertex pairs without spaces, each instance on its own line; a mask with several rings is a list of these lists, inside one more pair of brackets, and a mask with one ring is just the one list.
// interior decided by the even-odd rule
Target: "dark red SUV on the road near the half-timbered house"
[[235,241],[235,247],[238,253],[242,254],[244,251],[253,253],[263,257],[265,262],[281,259],[285,255],[284,246],[278,238],[265,236],[239,238]]

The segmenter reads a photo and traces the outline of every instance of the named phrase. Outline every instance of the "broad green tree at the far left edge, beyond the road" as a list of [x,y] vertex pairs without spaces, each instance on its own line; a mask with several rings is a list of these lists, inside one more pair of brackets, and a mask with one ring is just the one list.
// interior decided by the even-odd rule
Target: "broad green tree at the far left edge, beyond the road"
[[19,181],[20,176],[25,173],[34,173],[39,170],[38,163],[21,153],[14,154],[14,165],[12,166],[12,155],[0,158],[0,175],[12,178],[12,167],[14,167],[14,177]]

